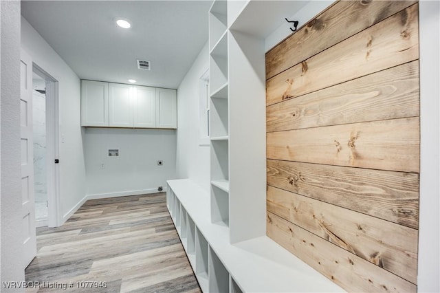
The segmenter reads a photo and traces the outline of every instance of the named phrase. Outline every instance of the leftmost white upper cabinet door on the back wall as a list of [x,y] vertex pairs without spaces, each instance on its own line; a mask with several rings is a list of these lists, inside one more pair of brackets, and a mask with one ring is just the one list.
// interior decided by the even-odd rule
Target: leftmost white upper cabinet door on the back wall
[[109,83],[81,80],[81,126],[109,126]]

